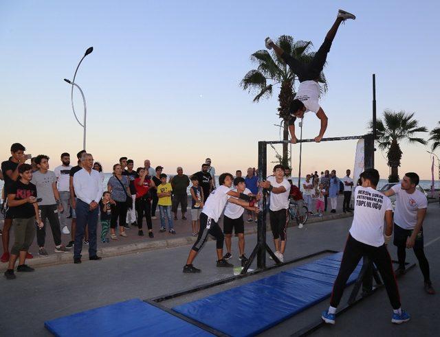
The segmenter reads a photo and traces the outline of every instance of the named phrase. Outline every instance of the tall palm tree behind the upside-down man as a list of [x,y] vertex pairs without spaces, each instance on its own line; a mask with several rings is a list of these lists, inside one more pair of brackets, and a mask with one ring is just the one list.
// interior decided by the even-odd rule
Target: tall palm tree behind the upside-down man
[[[310,62],[315,55],[314,51],[310,51],[313,46],[310,41],[294,41],[294,38],[289,35],[280,36],[276,40],[276,45],[304,63]],[[251,60],[258,67],[248,71],[240,85],[243,90],[257,92],[254,102],[259,102],[263,97],[271,97],[273,87],[280,86],[278,116],[284,121],[283,140],[287,141],[289,139],[289,105],[296,95],[295,82],[298,80],[298,76],[292,72],[282,58],[276,56],[274,51],[271,53],[267,50],[256,51],[252,54]],[[324,73],[320,74],[319,82],[323,84],[322,91],[327,91]],[[287,165],[288,162],[287,149],[287,143],[283,143],[283,165]]]

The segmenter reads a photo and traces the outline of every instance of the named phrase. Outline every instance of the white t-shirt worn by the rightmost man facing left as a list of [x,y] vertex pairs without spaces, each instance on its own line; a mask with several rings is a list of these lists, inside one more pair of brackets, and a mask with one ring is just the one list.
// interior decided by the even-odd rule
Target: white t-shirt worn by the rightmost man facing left
[[418,189],[409,194],[401,189],[401,184],[391,187],[395,191],[396,205],[394,210],[394,222],[403,229],[414,229],[417,224],[417,211],[428,208],[426,196]]

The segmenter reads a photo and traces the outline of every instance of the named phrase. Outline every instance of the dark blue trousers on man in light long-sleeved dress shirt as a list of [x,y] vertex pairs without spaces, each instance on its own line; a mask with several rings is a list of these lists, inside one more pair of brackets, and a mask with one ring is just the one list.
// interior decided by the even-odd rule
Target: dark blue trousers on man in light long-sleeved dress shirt
[[96,256],[96,226],[98,224],[98,207],[93,211],[89,205],[78,199],[76,202],[76,233],[74,257],[81,257],[85,226],[89,225],[89,257]]

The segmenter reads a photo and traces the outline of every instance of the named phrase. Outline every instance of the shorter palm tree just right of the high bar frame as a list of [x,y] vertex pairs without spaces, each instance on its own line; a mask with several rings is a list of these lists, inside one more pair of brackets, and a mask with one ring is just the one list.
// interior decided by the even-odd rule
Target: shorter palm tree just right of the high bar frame
[[[388,177],[390,183],[399,182],[399,166],[403,154],[399,142],[427,143],[425,139],[414,137],[416,132],[428,132],[425,126],[419,126],[417,119],[413,119],[414,115],[405,111],[385,110],[383,119],[377,119],[379,148],[386,151],[388,166],[391,167],[391,175]],[[372,122],[370,128],[373,128]]]

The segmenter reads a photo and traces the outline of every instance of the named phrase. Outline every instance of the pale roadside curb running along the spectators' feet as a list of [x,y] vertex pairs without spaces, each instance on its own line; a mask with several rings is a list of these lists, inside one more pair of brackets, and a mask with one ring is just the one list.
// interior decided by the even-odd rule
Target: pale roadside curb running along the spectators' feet
[[[305,226],[309,224],[314,224],[317,222],[324,222],[327,220],[337,220],[342,218],[349,218],[353,216],[353,213],[341,213],[341,214],[332,214],[322,218],[310,218],[307,220]],[[293,220],[289,221],[288,227],[295,227],[296,223]],[[267,231],[270,231],[270,224],[266,225]],[[252,226],[252,228],[245,227],[245,235],[255,234],[257,233],[256,227]],[[113,247],[105,247],[98,248],[97,254],[100,257],[114,257],[120,255],[128,255],[135,253],[142,253],[145,251],[157,251],[159,249],[164,248],[174,248],[179,246],[186,246],[189,244],[194,244],[196,241],[196,237],[188,236],[188,237],[176,237],[175,239],[169,240],[155,240],[155,241],[146,241],[146,242],[136,242],[133,244],[126,244],[122,246],[113,246]],[[212,240],[211,237],[208,237],[208,240]],[[83,262],[86,262],[89,258],[89,253],[87,250],[87,246],[83,246]],[[73,256],[72,253],[54,253],[48,257],[39,257],[38,259],[28,259],[26,263],[32,267],[45,267],[45,266],[55,266],[58,264],[72,264]],[[0,271],[3,272],[7,269],[8,264],[1,264]]]

